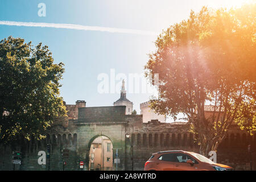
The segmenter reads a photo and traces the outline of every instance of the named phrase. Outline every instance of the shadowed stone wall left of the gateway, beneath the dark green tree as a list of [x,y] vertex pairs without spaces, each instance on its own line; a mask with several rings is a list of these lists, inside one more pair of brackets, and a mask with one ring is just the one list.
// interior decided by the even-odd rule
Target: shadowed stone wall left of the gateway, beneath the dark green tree
[[[20,139],[12,146],[0,146],[0,170],[26,170],[26,171],[47,171],[63,170],[63,162],[67,162],[64,170],[78,170],[79,156],[76,152],[77,134],[71,134],[67,131],[64,133],[47,135],[44,140],[24,140]],[[38,164],[38,152],[47,152],[47,144],[51,146],[50,159],[46,159],[46,165]],[[69,150],[69,158],[63,159],[62,150]],[[22,152],[22,165],[12,163],[12,151]]]

